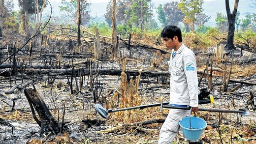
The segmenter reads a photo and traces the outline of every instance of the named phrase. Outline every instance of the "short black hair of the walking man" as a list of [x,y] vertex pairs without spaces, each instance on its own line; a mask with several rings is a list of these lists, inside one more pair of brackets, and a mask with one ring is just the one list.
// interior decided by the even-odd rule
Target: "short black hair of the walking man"
[[174,36],[177,36],[179,42],[182,42],[181,29],[179,27],[168,25],[162,29],[161,37],[167,37],[173,40]]

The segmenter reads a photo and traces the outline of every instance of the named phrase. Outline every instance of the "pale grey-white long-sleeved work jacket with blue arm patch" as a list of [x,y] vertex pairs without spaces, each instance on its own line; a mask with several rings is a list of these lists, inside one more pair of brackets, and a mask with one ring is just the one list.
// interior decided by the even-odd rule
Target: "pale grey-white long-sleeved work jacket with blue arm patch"
[[[195,55],[183,43],[169,64],[170,104],[198,106],[198,80]],[[172,57],[173,56],[173,57]]]

